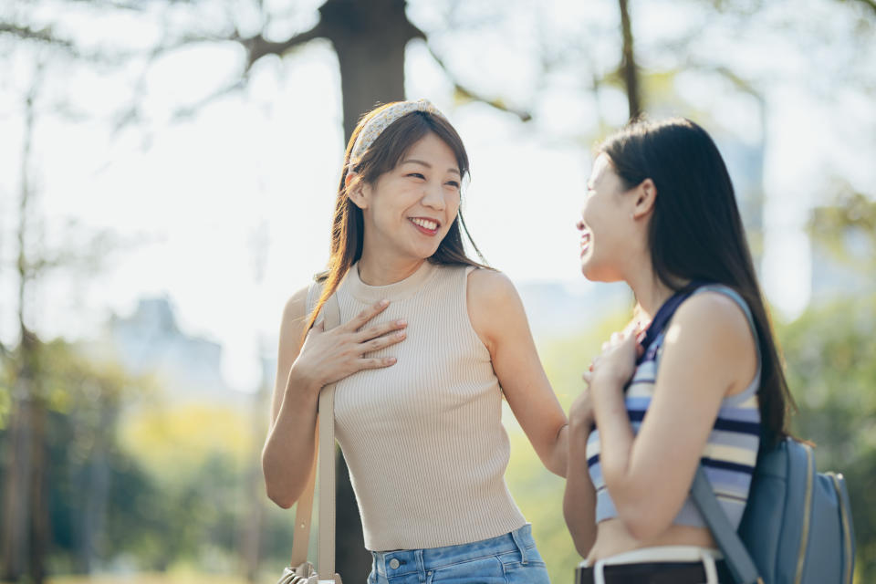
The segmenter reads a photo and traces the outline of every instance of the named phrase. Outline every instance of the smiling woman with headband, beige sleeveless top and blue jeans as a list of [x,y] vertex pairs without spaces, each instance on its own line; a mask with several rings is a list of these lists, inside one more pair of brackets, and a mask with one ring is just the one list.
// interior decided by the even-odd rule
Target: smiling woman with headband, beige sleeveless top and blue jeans
[[[502,398],[559,475],[567,421],[515,288],[465,255],[468,170],[463,142],[428,101],[368,113],[349,141],[321,295],[308,303],[302,289],[283,316],[267,493],[288,507],[304,490],[295,469],[313,461],[318,394],[337,381],[370,583],[548,581],[506,487]],[[325,331],[331,295],[342,324]]]

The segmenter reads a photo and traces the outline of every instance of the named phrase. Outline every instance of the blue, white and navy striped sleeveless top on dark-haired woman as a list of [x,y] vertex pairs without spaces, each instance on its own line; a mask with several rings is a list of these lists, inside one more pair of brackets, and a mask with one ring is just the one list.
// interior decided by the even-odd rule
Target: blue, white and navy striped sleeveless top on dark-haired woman
[[[733,527],[739,527],[742,514],[748,500],[748,490],[751,486],[751,476],[757,460],[757,449],[760,445],[760,410],[757,401],[757,389],[760,387],[760,349],[757,345],[755,321],[746,301],[735,290],[722,285],[706,285],[697,288],[693,295],[705,291],[719,292],[732,298],[742,308],[748,319],[748,325],[755,336],[757,351],[757,370],[755,378],[745,391],[731,395],[721,402],[718,417],[709,434],[703,449],[701,463],[709,483],[714,488],[714,495],[724,509]],[[665,331],[668,329],[663,328]],[[639,366],[633,373],[632,380],[626,390],[626,406],[630,415],[633,433],[639,432],[641,421],[648,412],[651,403],[654,381],[662,354],[663,333],[653,339],[645,348],[645,354]],[[594,429],[587,441],[587,462],[590,480],[596,489],[596,521],[604,521],[618,515],[611,500],[611,495],[605,486],[600,466],[600,431]],[[694,527],[706,527],[703,516],[694,505],[690,496],[685,499],[681,511],[673,519],[673,524]]]

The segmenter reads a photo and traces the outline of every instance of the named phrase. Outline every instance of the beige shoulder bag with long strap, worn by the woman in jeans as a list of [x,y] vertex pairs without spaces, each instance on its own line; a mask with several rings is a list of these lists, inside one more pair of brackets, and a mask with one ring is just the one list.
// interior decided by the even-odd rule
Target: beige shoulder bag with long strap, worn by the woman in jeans
[[[319,291],[315,282],[310,286],[308,300]],[[308,307],[310,303],[308,302]],[[331,295],[322,308],[325,329],[340,324],[338,298]],[[317,422],[318,456],[310,468],[310,480],[298,499],[295,511],[295,535],[292,539],[292,561],[283,570],[276,584],[342,584],[335,573],[335,384],[319,392]],[[322,415],[325,414],[325,415]],[[319,546],[317,568],[308,562],[310,518],[319,461]]]

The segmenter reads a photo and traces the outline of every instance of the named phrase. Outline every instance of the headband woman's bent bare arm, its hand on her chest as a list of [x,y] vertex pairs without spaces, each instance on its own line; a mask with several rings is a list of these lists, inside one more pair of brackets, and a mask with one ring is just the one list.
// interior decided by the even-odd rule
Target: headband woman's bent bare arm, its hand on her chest
[[288,508],[301,496],[316,453],[319,391],[363,369],[389,367],[394,358],[373,359],[366,354],[404,339],[401,321],[366,327],[388,305],[367,308],[349,323],[324,331],[307,326],[307,288],[289,298],[283,310],[276,360],[276,381],[271,402],[271,424],[262,450],[262,471],[268,497]]

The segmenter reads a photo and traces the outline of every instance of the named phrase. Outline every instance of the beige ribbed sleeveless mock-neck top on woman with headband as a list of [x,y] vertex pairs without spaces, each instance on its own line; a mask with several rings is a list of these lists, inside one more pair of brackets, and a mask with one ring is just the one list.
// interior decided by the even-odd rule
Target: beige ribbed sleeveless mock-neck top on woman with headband
[[386,369],[338,382],[336,435],[373,551],[443,547],[526,524],[505,483],[510,447],[489,351],[468,318],[471,267],[429,262],[373,287],[353,266],[337,296],[341,322],[381,298],[374,323],[408,321],[407,339],[370,353]]

